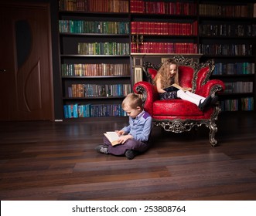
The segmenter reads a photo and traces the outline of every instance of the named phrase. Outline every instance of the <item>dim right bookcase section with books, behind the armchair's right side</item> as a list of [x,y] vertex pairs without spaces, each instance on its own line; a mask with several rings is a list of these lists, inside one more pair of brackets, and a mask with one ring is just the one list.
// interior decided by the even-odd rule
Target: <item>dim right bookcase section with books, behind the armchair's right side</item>
[[199,52],[216,62],[213,79],[226,85],[222,111],[255,110],[256,5],[251,1],[200,1]]

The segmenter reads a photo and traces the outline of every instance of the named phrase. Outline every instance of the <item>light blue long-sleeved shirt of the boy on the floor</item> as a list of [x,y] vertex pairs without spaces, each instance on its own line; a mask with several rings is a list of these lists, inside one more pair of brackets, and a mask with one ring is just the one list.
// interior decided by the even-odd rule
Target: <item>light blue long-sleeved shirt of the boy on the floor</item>
[[131,134],[135,140],[147,142],[152,130],[152,116],[145,112],[145,110],[139,113],[135,119],[129,116],[129,125],[121,130]]

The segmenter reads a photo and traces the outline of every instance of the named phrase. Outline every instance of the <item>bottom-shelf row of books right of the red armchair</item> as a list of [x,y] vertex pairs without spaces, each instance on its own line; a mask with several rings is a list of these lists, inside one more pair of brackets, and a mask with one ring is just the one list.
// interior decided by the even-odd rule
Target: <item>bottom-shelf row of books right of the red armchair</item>
[[254,110],[254,98],[246,97],[241,98],[241,100],[223,100],[220,103],[220,108],[222,111],[253,111]]

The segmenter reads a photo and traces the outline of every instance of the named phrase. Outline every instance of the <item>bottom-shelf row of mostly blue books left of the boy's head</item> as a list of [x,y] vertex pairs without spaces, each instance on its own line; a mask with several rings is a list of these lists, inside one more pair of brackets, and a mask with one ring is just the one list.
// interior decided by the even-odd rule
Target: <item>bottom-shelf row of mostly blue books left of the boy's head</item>
[[121,104],[66,104],[63,106],[64,117],[84,118],[102,116],[127,116]]

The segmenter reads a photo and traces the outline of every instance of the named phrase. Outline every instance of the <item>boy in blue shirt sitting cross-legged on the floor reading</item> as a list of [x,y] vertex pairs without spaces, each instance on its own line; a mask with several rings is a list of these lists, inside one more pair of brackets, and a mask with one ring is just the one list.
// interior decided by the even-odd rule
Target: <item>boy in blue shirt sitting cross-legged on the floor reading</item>
[[149,137],[152,130],[152,117],[143,110],[142,99],[135,93],[129,93],[123,100],[122,109],[129,116],[129,125],[117,130],[119,136],[118,145],[112,146],[104,137],[104,144],[95,148],[103,154],[124,155],[133,159],[137,154],[145,152],[149,147]]

